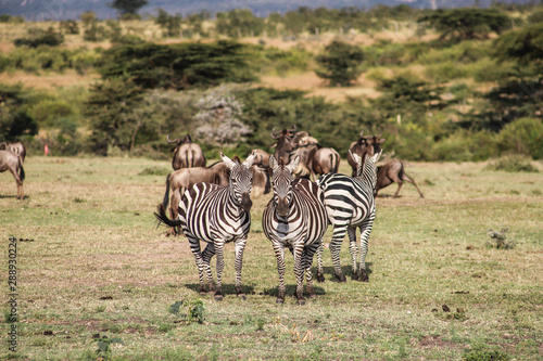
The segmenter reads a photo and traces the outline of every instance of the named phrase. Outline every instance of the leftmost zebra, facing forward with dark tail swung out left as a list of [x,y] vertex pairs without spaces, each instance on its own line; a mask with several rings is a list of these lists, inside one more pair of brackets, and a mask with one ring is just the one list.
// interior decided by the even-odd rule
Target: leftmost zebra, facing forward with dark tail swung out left
[[[200,273],[200,293],[205,294],[204,271],[215,291],[215,299],[223,299],[223,269],[224,247],[228,242],[236,244],[236,292],[238,297],[245,299],[241,291],[241,267],[243,249],[251,227],[250,209],[252,202],[251,180],[254,152],[241,163],[238,157],[233,160],[220,153],[220,157],[230,169],[228,186],[212,183],[195,183],[188,189],[179,202],[178,220],[169,220],[163,205],[159,206],[156,218],[169,227],[181,227],[185,236],[189,240],[190,249],[194,255]],[[203,252],[200,241],[207,242]],[[217,255],[217,283],[213,281],[211,259]]]

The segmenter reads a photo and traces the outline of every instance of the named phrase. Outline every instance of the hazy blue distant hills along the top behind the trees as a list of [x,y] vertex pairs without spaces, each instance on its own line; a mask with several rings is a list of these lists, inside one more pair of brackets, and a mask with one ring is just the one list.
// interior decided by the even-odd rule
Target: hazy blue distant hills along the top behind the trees
[[[108,3],[112,0],[0,0],[0,14],[24,16],[28,21],[78,20],[79,14],[93,11],[99,18],[115,18],[117,13]],[[488,7],[491,0],[477,1],[479,7]],[[506,3],[529,3],[530,0],[508,0]],[[272,12],[287,12],[299,7],[344,8],[356,7],[370,9],[378,4],[395,7],[408,4],[414,8],[462,8],[472,7],[475,0],[149,0],[149,5],[140,14],[154,14],[162,8],[171,14],[189,14],[203,10],[212,13],[236,8],[248,8],[257,16]]]

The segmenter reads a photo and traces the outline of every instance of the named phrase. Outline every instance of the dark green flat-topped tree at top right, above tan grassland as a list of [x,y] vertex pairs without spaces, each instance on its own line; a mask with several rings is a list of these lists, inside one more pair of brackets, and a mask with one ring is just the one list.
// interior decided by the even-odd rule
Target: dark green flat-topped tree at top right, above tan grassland
[[419,17],[418,22],[435,27],[441,41],[453,43],[487,39],[490,33],[501,34],[510,27],[509,17],[496,9],[440,9]]

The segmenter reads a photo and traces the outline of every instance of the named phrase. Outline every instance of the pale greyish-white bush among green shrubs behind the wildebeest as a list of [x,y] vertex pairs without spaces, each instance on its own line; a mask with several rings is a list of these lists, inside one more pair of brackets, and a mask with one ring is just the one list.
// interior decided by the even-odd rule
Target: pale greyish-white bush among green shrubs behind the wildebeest
[[225,87],[210,91],[197,106],[200,111],[195,115],[199,125],[195,134],[204,143],[219,149],[231,147],[244,142],[244,136],[251,133],[251,129],[238,119],[243,113],[243,104]]

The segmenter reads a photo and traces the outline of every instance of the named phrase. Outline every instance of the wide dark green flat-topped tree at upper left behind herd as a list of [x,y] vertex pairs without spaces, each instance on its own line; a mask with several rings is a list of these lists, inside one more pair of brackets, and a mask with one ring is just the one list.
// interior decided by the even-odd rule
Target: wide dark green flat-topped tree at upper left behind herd
[[143,88],[187,89],[254,79],[245,47],[231,41],[119,46],[104,52],[103,78],[127,76]]

